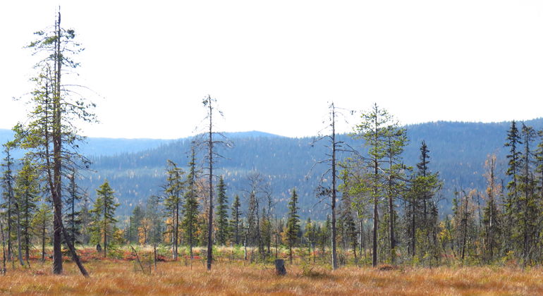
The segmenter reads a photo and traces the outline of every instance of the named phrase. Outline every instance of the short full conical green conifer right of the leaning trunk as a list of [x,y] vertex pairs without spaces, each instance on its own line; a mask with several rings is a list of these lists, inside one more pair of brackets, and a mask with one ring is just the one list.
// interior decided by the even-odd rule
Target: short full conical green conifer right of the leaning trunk
[[[96,190],[96,201],[90,211],[92,213],[92,237],[96,242],[103,242],[104,257],[107,257],[107,249],[111,246],[111,238],[115,232],[115,209],[119,204],[115,203],[114,190],[107,180]],[[103,238],[103,240],[102,240]]]

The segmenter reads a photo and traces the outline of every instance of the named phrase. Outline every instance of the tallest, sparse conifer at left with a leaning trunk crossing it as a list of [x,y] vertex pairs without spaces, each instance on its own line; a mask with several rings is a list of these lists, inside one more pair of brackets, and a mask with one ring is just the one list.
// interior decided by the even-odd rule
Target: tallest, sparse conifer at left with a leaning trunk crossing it
[[[62,273],[62,236],[68,238],[68,230],[62,221],[63,175],[66,168],[79,164],[88,166],[88,161],[78,153],[78,142],[83,137],[78,135],[75,119],[78,121],[94,121],[94,114],[80,91],[73,90],[73,83],[63,84],[64,75],[73,73],[79,63],[73,56],[83,49],[75,42],[75,31],[66,30],[61,26],[61,13],[54,23],[54,29],[35,33],[37,40],[31,42],[28,48],[34,50],[34,55],[42,58],[35,66],[38,75],[34,79],[35,90],[31,93],[29,121],[19,123],[13,130],[21,148],[27,149],[27,156],[35,162],[47,183],[54,206],[54,235],[53,235],[53,272]],[[66,70],[68,69],[68,70]],[[75,247],[70,240],[66,245],[83,276],[88,276]]]

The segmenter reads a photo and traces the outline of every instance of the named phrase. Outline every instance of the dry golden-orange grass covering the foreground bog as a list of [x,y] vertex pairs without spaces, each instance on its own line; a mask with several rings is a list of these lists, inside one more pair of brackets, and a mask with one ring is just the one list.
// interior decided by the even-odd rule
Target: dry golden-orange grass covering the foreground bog
[[[33,261],[31,269],[8,269],[0,293],[16,295],[543,295],[543,269],[496,267],[373,269],[348,266],[303,271],[287,265],[276,276],[272,265],[219,259],[212,271],[202,260],[159,262],[157,270],[133,261],[89,259],[90,278],[66,262],[62,276],[51,262]],[[149,269],[152,272],[149,273]]]

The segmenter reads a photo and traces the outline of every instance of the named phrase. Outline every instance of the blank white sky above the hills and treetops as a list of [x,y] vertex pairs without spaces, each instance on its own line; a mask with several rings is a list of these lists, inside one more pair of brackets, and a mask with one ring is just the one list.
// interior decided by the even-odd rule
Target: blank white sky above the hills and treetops
[[315,135],[332,100],[401,123],[543,116],[543,1],[2,1],[0,128],[24,118],[22,47],[59,4],[101,95],[91,137],[191,135],[207,94],[222,130],[286,136]]

